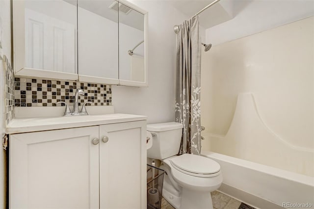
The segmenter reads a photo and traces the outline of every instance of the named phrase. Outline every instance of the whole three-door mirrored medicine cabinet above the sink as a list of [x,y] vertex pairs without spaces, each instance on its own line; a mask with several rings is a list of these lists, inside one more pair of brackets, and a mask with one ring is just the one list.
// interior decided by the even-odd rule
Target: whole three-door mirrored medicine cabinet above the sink
[[147,86],[148,13],[128,1],[13,1],[16,77]]

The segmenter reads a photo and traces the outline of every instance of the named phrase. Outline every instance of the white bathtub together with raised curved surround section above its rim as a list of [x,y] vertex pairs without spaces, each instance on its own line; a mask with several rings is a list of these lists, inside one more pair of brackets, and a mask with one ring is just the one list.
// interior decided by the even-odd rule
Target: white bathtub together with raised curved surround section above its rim
[[257,208],[277,209],[287,202],[314,205],[313,151],[276,135],[258,107],[253,94],[239,94],[229,131],[211,136],[212,152],[202,151],[221,166],[219,190]]

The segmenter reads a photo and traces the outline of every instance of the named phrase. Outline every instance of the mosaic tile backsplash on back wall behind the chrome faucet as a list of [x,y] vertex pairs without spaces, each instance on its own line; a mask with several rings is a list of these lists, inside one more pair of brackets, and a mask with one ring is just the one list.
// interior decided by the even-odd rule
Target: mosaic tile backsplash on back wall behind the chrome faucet
[[[56,102],[74,104],[76,89],[82,89],[84,96],[78,97],[78,105],[92,102],[92,105],[112,105],[111,86],[79,81],[38,78],[15,78],[15,106],[63,106]],[[88,104],[91,105],[91,104]]]

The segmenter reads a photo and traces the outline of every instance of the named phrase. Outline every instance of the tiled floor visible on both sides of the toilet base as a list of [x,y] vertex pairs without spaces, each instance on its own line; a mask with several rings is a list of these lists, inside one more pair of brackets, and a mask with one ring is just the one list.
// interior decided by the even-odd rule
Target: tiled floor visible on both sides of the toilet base
[[[218,191],[211,192],[211,199],[214,209],[255,209]],[[174,208],[162,198],[161,209]]]

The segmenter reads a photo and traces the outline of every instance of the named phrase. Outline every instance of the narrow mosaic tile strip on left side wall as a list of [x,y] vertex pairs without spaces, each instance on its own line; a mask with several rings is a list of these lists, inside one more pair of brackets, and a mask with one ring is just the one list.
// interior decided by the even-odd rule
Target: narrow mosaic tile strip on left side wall
[[5,123],[7,125],[14,118],[14,74],[5,55],[2,63],[5,76]]

